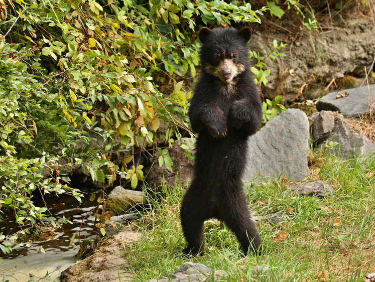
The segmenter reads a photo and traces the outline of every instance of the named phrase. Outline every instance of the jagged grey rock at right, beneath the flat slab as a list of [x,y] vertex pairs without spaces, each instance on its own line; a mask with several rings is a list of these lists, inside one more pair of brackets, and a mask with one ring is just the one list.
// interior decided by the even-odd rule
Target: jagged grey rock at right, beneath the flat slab
[[[324,149],[328,146],[327,148],[329,148],[332,153],[340,153],[343,158],[347,158],[352,155],[367,158],[371,156],[371,154],[375,153],[375,144],[373,144],[366,136],[356,134],[354,127],[346,122],[341,114],[332,113],[331,111],[314,113],[309,118],[310,123],[312,126],[317,128],[324,127],[324,125],[321,123],[326,122],[327,119],[331,119],[327,118],[327,115],[331,115],[334,118],[334,126],[330,132],[321,134],[321,131],[319,130],[313,130],[313,128],[311,130],[311,138],[319,141],[317,144],[315,144],[316,149]],[[324,118],[322,118],[322,116],[324,116]],[[327,130],[330,127],[325,126]],[[337,144],[334,145],[334,143]]]

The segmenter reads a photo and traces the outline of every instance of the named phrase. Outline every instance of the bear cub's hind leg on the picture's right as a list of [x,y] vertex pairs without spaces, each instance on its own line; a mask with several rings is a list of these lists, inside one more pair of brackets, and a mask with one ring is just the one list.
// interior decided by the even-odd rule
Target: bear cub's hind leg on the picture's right
[[245,195],[241,191],[241,195],[235,195],[234,198],[227,203],[228,210],[223,214],[222,220],[237,236],[246,255],[251,252],[261,254],[261,237],[251,219]]

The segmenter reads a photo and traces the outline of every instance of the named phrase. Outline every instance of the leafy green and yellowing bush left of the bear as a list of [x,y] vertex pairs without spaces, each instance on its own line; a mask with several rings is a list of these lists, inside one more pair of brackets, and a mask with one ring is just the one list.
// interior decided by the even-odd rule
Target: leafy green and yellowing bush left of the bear
[[[21,225],[55,224],[32,194],[80,199],[60,173],[73,164],[98,182],[120,173],[137,184],[132,158],[108,156],[155,142],[162,120],[188,130],[181,76],[196,75],[196,23],[260,23],[263,11],[221,0],[0,0],[0,205]],[[14,239],[0,234],[4,252]]]

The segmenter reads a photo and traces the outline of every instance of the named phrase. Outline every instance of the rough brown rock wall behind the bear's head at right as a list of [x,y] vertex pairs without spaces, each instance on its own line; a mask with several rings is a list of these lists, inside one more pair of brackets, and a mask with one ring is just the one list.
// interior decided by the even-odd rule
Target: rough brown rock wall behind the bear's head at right
[[[271,75],[262,87],[266,97],[283,94],[284,101],[315,99],[332,79],[344,75],[364,77],[375,55],[375,29],[369,20],[359,17],[338,19],[332,29],[315,33],[303,28],[296,35],[287,32],[264,34],[256,32],[251,49],[260,54],[271,53],[272,41],[286,42],[281,52],[286,57],[265,60]],[[285,39],[289,38],[288,41]],[[330,91],[334,91],[334,85]]]

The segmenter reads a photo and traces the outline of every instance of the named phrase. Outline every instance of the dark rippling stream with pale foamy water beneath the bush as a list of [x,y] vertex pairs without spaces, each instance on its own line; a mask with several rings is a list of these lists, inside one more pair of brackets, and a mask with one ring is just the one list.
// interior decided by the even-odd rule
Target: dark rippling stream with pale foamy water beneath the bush
[[[92,215],[87,216],[87,213],[94,208],[96,202],[90,202],[89,196],[89,193],[86,194],[81,203],[73,196],[64,194],[59,197],[48,197],[46,202],[52,215],[56,219],[64,215],[73,224],[64,224],[63,230],[60,228],[55,231],[57,235],[53,239],[31,243],[31,247],[14,247],[10,254],[0,252],[0,281],[9,278],[12,282],[28,281],[29,273],[34,274],[35,280],[38,280],[37,277],[44,277],[47,271],[52,279],[59,280],[60,272],[76,262],[75,255],[78,252],[76,246],[79,246],[79,239],[89,238],[94,225],[95,218]],[[35,201],[35,205],[44,206],[38,201]],[[9,219],[12,218],[12,214],[5,213],[3,217],[5,220],[0,223],[0,232],[13,234],[19,230],[19,225]],[[79,236],[76,236],[73,244],[69,245],[73,234],[79,230]],[[40,251],[40,246],[44,248],[45,253]],[[12,270],[13,277],[4,277],[2,269]]]

